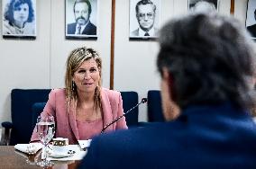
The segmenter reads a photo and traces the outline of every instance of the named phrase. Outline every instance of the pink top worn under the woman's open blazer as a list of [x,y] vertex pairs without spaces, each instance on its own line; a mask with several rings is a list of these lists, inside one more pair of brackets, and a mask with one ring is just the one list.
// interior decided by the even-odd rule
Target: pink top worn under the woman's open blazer
[[103,120],[93,120],[93,121],[80,121],[77,120],[78,126],[78,136],[79,139],[91,139],[94,136],[98,135],[103,129]]

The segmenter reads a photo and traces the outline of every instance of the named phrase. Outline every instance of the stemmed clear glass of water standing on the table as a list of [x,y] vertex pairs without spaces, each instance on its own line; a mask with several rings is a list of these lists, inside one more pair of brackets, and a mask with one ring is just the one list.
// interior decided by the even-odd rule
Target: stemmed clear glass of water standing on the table
[[55,132],[55,122],[53,116],[39,116],[37,118],[36,123],[36,132],[38,137],[40,138],[41,144],[43,145],[41,151],[41,158],[42,161],[38,162],[36,165],[40,166],[51,166],[54,165],[52,162],[47,160],[48,153],[47,153],[47,145],[50,142],[51,138],[54,136]]

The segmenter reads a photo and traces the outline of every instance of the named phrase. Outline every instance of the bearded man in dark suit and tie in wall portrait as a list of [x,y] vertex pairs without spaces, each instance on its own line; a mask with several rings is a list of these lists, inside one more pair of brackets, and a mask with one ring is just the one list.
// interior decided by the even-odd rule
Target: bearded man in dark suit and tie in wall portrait
[[89,0],[76,0],[73,6],[76,22],[67,25],[68,34],[96,35],[96,25],[90,22],[92,6]]

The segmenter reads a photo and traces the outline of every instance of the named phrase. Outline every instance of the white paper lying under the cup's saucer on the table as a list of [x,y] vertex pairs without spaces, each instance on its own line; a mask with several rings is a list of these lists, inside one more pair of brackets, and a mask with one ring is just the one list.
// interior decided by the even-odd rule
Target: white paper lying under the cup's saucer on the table
[[86,156],[87,151],[82,151],[78,145],[69,145],[70,150],[75,151],[73,156],[67,156],[63,158],[54,158],[52,156],[48,157],[49,160],[56,160],[56,161],[71,161],[71,160],[81,160],[84,156]]

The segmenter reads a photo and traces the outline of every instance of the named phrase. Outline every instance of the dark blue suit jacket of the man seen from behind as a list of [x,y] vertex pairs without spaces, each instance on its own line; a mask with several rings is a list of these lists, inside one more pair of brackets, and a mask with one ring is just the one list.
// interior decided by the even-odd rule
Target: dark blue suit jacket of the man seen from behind
[[79,168],[256,168],[256,125],[230,104],[93,139]]

